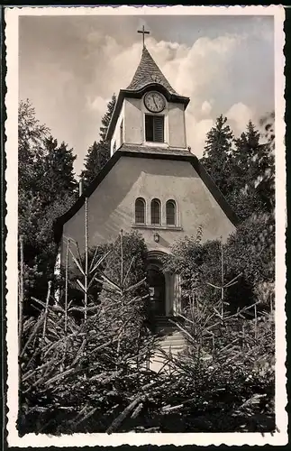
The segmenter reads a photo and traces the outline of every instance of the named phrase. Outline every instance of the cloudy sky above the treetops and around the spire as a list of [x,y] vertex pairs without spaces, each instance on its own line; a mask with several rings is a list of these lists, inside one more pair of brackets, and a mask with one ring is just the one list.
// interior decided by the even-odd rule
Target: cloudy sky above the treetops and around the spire
[[23,16],[19,22],[20,98],[77,154],[98,141],[113,93],[130,83],[146,45],[181,95],[187,144],[202,155],[205,133],[227,115],[234,133],[274,108],[272,16]]

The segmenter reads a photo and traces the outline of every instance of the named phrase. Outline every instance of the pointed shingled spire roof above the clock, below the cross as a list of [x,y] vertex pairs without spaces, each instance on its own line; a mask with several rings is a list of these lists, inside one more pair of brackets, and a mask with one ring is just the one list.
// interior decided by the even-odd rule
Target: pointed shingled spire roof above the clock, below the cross
[[139,91],[152,83],[159,83],[168,90],[169,94],[177,96],[177,92],[168,83],[167,78],[159,69],[156,62],[150,56],[150,52],[144,46],[141,53],[141,61],[132,78],[131,84],[126,88],[129,91]]

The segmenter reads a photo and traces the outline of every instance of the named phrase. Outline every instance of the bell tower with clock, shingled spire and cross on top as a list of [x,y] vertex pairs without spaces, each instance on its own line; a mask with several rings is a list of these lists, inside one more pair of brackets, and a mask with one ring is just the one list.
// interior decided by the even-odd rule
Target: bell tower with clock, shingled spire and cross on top
[[144,44],[142,27],[141,61],[132,81],[121,89],[107,131],[111,156],[121,147],[186,150],[185,110],[189,98],[180,96],[168,83]]

